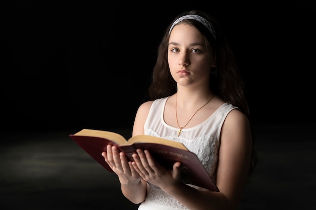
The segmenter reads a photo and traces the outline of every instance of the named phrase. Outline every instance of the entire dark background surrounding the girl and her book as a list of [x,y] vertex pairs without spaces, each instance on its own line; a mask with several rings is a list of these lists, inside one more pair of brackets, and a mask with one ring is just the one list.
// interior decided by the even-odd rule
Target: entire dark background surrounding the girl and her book
[[259,159],[238,209],[315,209],[307,1],[2,1],[0,208],[137,209],[68,135],[130,135],[164,30],[190,9],[222,24],[246,82]]

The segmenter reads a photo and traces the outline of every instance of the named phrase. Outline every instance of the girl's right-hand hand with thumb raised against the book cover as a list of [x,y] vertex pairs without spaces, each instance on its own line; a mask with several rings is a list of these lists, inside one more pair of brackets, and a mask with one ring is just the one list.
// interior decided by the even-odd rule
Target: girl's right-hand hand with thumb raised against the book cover
[[132,166],[142,179],[160,188],[169,187],[179,183],[181,176],[181,162],[176,162],[172,170],[168,170],[157,163],[148,150],[137,149],[133,154]]

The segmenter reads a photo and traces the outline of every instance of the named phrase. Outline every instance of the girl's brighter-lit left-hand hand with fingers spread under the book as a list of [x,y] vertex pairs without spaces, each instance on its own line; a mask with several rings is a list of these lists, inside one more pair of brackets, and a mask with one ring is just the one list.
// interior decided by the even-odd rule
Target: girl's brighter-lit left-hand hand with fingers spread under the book
[[138,183],[141,177],[134,169],[132,162],[128,161],[123,152],[115,146],[108,145],[107,151],[102,152],[104,160],[119,177],[121,184]]

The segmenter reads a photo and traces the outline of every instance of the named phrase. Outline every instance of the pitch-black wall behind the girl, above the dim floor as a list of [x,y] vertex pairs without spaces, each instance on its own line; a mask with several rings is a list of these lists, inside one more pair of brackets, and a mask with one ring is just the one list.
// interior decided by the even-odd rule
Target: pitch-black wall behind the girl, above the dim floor
[[314,118],[311,4],[65,2],[11,1],[0,9],[4,130],[131,127],[157,44],[189,9],[209,12],[228,33],[256,123]]

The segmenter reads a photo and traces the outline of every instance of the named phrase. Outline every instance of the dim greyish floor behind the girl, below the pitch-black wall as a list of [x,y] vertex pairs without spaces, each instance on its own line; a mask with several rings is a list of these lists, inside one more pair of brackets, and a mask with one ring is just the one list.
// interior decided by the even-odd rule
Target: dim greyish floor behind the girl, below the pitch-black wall
[[[257,125],[258,165],[239,209],[315,209],[314,124]],[[69,134],[78,130],[7,133],[0,148],[2,209],[137,209],[117,176]],[[129,137],[129,129],[116,132]]]

